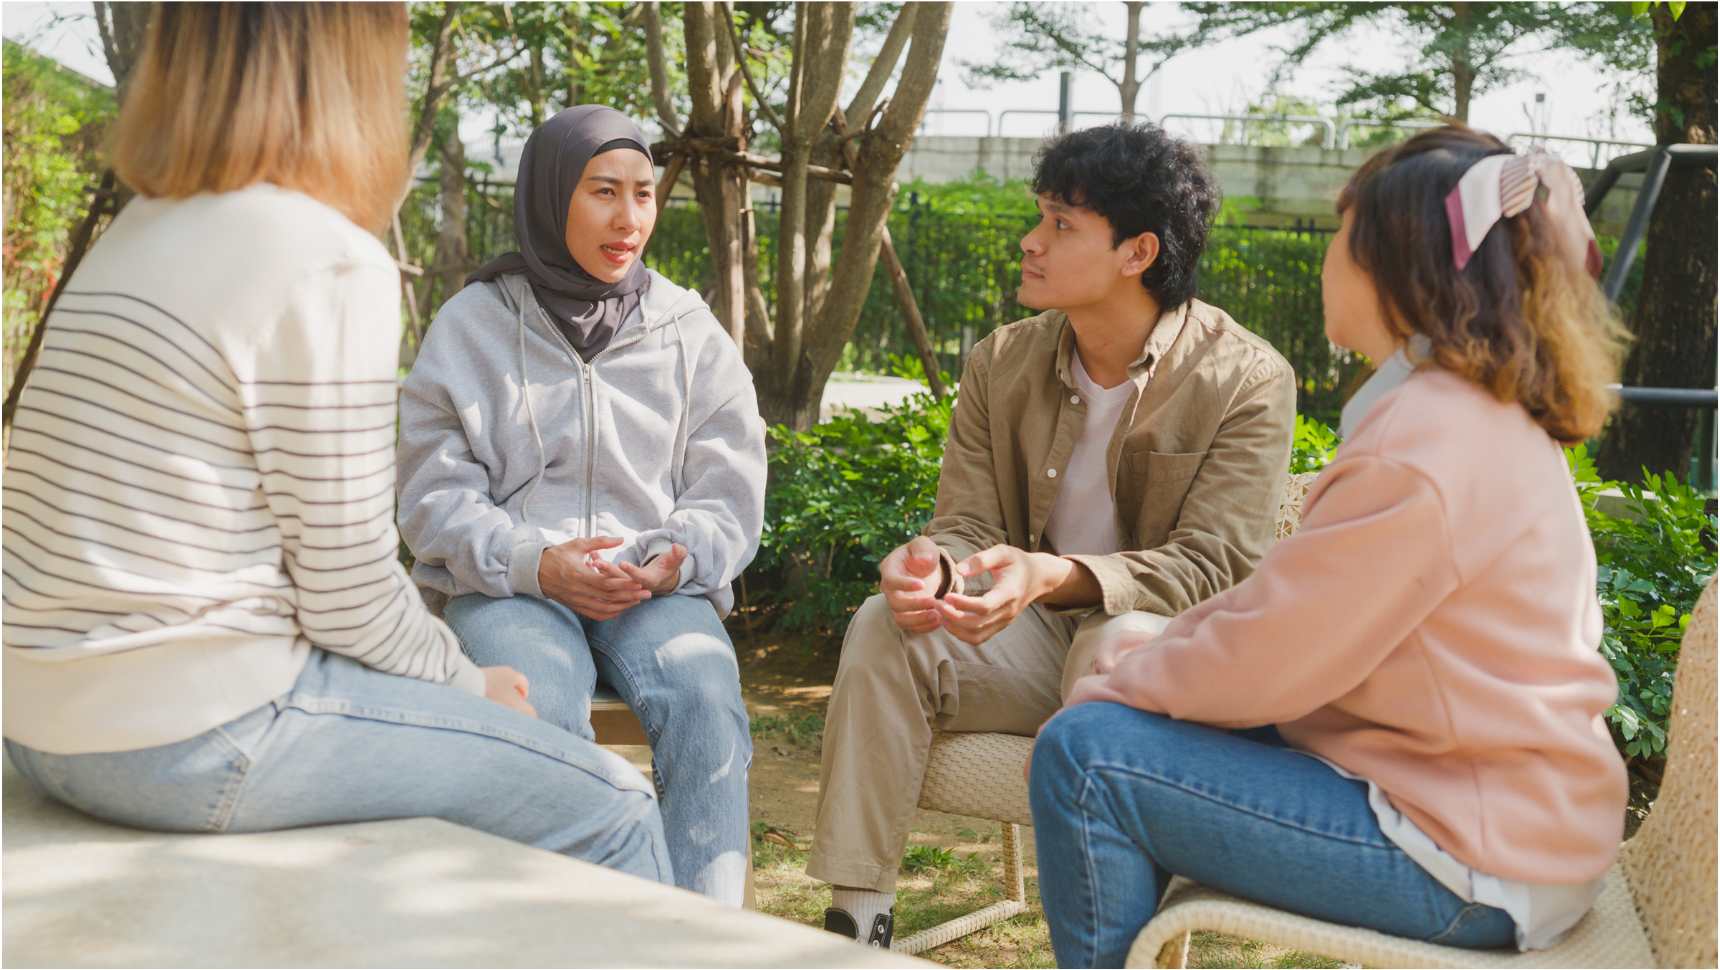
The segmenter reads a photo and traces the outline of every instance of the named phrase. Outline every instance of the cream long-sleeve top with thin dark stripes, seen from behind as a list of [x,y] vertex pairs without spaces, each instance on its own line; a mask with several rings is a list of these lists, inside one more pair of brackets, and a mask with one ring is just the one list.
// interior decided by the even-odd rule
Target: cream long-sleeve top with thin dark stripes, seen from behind
[[397,306],[380,242],[298,193],[115,218],[7,449],[7,738],[184,740],[286,693],[311,648],[483,691],[397,561]]

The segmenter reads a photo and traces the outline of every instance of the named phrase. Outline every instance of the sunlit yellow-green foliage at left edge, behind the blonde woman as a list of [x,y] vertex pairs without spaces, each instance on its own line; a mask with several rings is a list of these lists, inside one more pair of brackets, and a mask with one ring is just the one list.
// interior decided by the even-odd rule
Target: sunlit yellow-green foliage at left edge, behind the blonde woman
[[5,382],[65,265],[100,175],[114,93],[5,41]]

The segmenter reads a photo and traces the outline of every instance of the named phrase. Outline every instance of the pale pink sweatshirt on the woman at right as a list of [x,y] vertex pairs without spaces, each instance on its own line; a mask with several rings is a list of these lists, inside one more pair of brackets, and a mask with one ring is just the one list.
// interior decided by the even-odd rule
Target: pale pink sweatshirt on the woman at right
[[1283,738],[1376,783],[1459,862],[1584,882],[1624,834],[1594,547],[1558,445],[1436,368],[1383,396],[1299,531],[1068,703]]

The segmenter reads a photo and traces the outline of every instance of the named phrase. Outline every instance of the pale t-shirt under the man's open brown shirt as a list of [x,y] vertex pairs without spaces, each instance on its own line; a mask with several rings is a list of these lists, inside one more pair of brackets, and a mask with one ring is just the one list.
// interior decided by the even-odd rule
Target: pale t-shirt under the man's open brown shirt
[[1077,397],[1087,408],[1087,420],[1070,452],[1068,468],[1061,471],[1063,487],[1046,519],[1046,542],[1060,556],[1109,556],[1121,552],[1123,533],[1116,526],[1116,499],[1111,495],[1104,454],[1135,384],[1125,380],[1116,387],[1099,387],[1082,366],[1080,351],[1070,351],[1070,370]]

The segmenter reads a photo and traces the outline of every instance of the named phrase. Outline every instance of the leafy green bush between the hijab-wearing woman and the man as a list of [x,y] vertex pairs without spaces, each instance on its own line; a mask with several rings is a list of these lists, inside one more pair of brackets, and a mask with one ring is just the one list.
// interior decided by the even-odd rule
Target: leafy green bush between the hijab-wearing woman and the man
[[[877,585],[877,564],[932,516],[953,399],[915,396],[877,420],[846,411],[771,428],[771,487],[748,605],[788,629],[839,631]],[[759,592],[769,586],[771,592]]]

